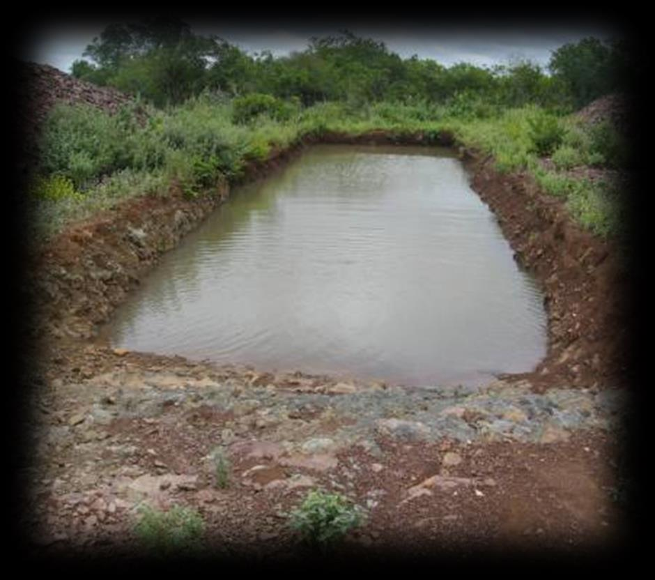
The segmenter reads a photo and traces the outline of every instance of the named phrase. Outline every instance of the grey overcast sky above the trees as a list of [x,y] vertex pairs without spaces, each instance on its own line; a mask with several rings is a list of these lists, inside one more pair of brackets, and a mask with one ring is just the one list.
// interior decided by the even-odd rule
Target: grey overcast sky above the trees
[[[446,66],[469,62],[479,66],[504,64],[516,59],[530,59],[546,65],[550,54],[566,43],[585,36],[605,40],[616,35],[606,24],[514,24],[499,26],[475,24],[364,24],[362,22],[287,22],[248,24],[245,20],[212,22],[185,18],[197,34],[217,34],[247,52],[270,50],[276,56],[305,49],[309,38],[348,29],[358,36],[382,40],[403,57],[417,54]],[[75,59],[82,58],[86,45],[111,21],[85,24],[42,24],[33,28],[31,38],[21,48],[20,57],[56,66],[70,72]]]

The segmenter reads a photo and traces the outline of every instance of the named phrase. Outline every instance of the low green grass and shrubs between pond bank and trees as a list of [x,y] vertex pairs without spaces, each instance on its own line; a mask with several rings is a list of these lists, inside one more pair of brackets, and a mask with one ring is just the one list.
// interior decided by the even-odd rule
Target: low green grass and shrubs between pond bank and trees
[[[499,171],[528,171],[546,192],[567,200],[583,227],[604,236],[616,227],[617,196],[567,175],[572,167],[625,162],[621,139],[606,125],[587,129],[534,105],[495,109],[474,101],[323,102],[288,107],[285,114],[279,114],[279,102],[267,107],[257,109],[254,122],[235,122],[240,114],[233,101],[202,95],[173,109],[148,109],[147,121],[139,123],[130,107],[110,116],[91,107],[59,105],[45,125],[40,176],[31,188],[38,192],[32,194],[34,235],[52,236],[68,222],[127,197],[165,195],[172,181],[195,197],[218,180],[240,178],[247,162],[265,159],[272,148],[309,135],[371,130],[428,137],[450,132],[461,144],[493,155]],[[539,162],[546,153],[554,164],[548,171]]]

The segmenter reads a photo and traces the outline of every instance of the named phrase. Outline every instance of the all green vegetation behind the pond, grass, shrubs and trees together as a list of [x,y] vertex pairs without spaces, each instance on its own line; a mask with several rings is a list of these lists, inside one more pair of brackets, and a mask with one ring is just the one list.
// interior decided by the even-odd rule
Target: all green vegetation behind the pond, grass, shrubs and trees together
[[130,107],[114,116],[54,109],[33,186],[46,231],[125,195],[166,194],[171,183],[200,194],[305,135],[375,129],[421,132],[428,142],[450,132],[491,153],[501,170],[530,171],[597,233],[619,222],[612,187],[569,170],[625,167],[624,139],[612,125],[590,128],[567,115],[632,74],[619,42],[565,45],[547,75],[529,62],[445,68],[401,59],[350,33],[313,38],[291,56],[251,56],[194,36],[183,22],[154,19],[108,26],[84,56],[91,62],[76,61],[73,75],[134,93],[147,120]]

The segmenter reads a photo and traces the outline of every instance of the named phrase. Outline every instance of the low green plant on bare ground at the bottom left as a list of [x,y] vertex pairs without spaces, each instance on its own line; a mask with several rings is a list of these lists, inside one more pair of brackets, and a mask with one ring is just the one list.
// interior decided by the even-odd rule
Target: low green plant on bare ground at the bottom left
[[141,505],[139,512],[141,519],[134,532],[146,549],[164,556],[201,548],[205,524],[196,510],[174,505],[167,512],[161,512]]

